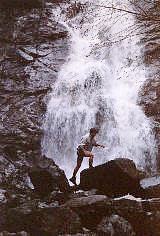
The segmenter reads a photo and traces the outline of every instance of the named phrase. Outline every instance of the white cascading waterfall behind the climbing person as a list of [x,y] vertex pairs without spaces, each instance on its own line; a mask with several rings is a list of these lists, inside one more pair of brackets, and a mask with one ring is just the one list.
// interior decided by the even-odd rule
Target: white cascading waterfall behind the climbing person
[[[70,4],[75,1],[70,1]],[[133,159],[141,167],[155,167],[152,123],[137,105],[147,79],[141,60],[134,16],[104,6],[104,0],[81,0],[84,10],[73,18],[66,4],[53,11],[70,35],[70,53],[53,84],[44,121],[43,153],[71,176],[76,146],[93,126],[99,126],[94,165],[117,157]],[[131,9],[129,1],[113,0]],[[61,13],[63,10],[63,14]],[[84,161],[82,168],[88,167]]]

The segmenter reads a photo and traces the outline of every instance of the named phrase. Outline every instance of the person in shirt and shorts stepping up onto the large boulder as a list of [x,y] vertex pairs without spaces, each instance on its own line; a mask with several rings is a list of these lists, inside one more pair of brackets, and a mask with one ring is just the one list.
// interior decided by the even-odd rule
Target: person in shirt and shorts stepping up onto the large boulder
[[81,138],[81,143],[77,147],[77,166],[73,171],[73,176],[69,179],[76,184],[76,174],[81,167],[83,157],[89,157],[89,168],[93,167],[94,155],[91,153],[93,146],[105,148],[104,145],[98,144],[94,137],[98,133],[98,129],[91,128],[90,132]]

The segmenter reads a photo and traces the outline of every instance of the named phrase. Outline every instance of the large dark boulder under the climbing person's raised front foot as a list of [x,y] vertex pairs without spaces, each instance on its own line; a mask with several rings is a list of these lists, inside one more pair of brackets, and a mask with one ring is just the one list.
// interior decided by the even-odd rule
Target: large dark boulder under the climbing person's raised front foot
[[80,188],[83,190],[95,188],[110,197],[128,193],[143,196],[144,189],[139,183],[140,178],[142,178],[141,172],[136,169],[132,160],[117,158],[83,170],[80,174]]

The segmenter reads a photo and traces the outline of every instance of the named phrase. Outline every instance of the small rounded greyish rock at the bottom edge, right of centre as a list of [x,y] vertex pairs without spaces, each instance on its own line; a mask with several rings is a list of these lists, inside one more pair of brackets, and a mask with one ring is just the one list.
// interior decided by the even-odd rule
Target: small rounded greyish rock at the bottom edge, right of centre
[[99,235],[135,236],[132,226],[128,221],[118,215],[104,217],[97,226]]

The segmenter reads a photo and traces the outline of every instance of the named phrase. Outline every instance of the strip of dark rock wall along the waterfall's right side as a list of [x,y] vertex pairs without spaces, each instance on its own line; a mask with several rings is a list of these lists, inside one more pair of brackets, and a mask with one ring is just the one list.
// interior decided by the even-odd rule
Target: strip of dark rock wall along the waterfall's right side
[[[160,1],[147,3],[141,1],[146,17],[140,17],[142,29],[141,40],[144,45],[144,62],[149,68],[149,79],[140,91],[139,104],[145,114],[153,121],[155,139],[157,141],[157,167],[160,166],[160,35],[159,35],[159,4]],[[142,14],[143,15],[143,14]]]

